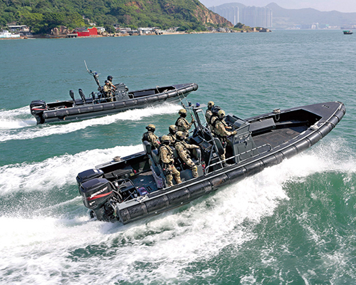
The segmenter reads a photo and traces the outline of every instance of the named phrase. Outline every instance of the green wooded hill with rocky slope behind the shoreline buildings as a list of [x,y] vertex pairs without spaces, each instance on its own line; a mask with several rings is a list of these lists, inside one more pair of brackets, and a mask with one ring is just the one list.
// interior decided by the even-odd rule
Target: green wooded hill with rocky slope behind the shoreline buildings
[[0,26],[28,25],[34,33],[52,28],[104,26],[179,27],[205,31],[206,26],[232,26],[198,0],[0,0]]

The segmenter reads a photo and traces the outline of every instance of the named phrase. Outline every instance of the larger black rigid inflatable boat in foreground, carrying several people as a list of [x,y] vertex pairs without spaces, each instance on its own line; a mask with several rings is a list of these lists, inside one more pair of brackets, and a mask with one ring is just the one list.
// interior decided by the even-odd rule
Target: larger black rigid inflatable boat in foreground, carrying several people
[[228,138],[228,166],[224,166],[219,158],[221,142],[204,123],[201,107],[198,103],[190,107],[197,123],[189,137],[190,143],[200,146],[191,153],[199,177],[193,178],[191,170],[177,161],[182,183],[166,187],[157,150],[143,142],[145,151],[115,157],[78,174],[79,193],[90,217],[126,224],[187,204],[308,149],[345,115],[345,105],[340,102],[276,109],[246,120],[226,115],[224,120],[237,134]]

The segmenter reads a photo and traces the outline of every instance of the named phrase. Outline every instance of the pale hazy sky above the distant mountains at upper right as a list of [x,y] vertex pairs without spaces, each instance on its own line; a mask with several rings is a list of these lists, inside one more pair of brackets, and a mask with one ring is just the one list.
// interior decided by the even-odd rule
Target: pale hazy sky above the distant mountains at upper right
[[275,2],[286,9],[314,8],[319,11],[356,12],[356,0],[199,0],[206,7],[225,3],[241,3],[246,6],[266,6]]

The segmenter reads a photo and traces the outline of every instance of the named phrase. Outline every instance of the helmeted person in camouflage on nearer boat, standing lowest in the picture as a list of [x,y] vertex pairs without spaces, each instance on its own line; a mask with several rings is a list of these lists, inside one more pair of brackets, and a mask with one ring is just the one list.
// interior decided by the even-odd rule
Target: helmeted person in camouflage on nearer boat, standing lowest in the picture
[[169,147],[171,141],[168,135],[163,135],[161,138],[162,145],[159,147],[159,161],[161,162],[164,175],[167,180],[167,187],[173,186],[173,176],[177,184],[182,183],[180,180],[180,173],[174,167],[174,155],[173,150]]

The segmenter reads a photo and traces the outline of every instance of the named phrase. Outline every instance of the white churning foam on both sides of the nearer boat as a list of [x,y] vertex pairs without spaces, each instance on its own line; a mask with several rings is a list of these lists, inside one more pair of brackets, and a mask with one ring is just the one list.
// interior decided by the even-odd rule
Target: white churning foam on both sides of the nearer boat
[[[75,184],[77,172],[115,155],[138,150],[140,145],[90,150],[33,165],[3,167],[0,176],[12,175],[11,178],[16,179],[17,173],[23,191],[61,187],[63,183]],[[209,264],[209,260],[226,247],[238,250],[241,244],[256,238],[244,222],[258,224],[263,217],[273,214],[281,200],[288,200],[286,182],[303,181],[317,172],[355,173],[355,157],[347,152],[340,141],[319,143],[308,152],[224,187],[189,206],[125,226],[92,222],[81,215],[71,219],[1,217],[3,258],[0,269],[3,273],[0,279],[5,283],[11,280],[43,283],[51,279],[53,284],[189,281],[197,277],[197,272],[192,271],[194,263]],[[54,165],[59,165],[60,174],[52,170]],[[13,171],[9,171],[11,169]],[[25,180],[31,182],[25,183]],[[6,183],[10,183],[9,180],[1,181],[1,189],[8,187],[9,191],[18,191],[16,183]],[[51,186],[46,185],[48,183]],[[330,256],[330,260],[337,258],[337,253]],[[216,274],[213,268],[199,270],[202,279]],[[254,279],[253,274],[249,274],[242,281],[248,284]]]

